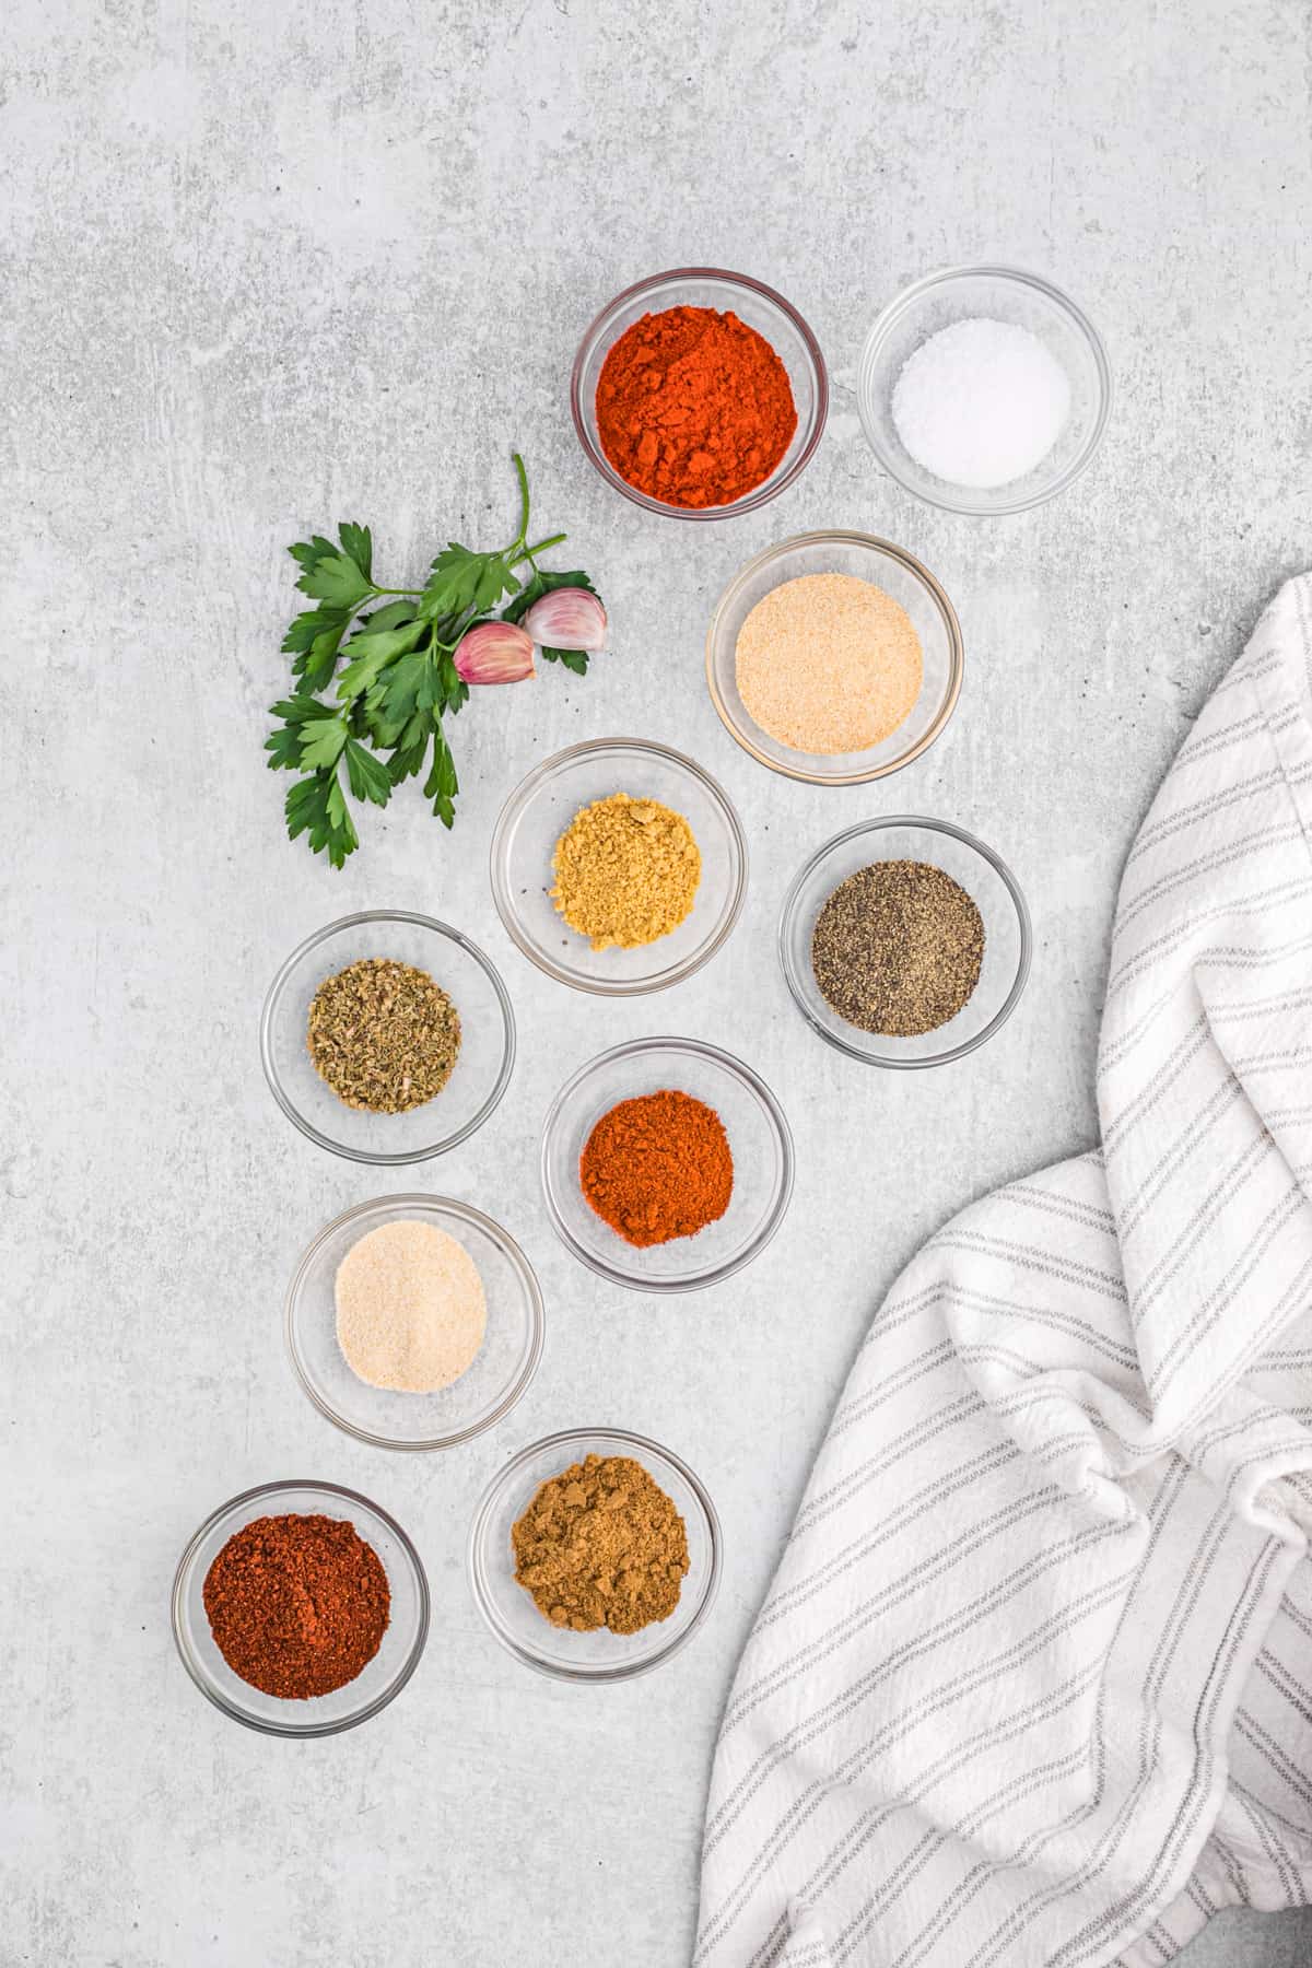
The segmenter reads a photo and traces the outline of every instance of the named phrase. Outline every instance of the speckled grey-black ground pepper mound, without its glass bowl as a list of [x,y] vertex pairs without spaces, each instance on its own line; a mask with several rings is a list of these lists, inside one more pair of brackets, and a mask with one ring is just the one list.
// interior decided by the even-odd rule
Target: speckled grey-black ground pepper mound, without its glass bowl
[[834,1012],[897,1039],[956,1017],[982,962],[980,909],[928,862],[858,868],[828,897],[810,939],[810,968]]

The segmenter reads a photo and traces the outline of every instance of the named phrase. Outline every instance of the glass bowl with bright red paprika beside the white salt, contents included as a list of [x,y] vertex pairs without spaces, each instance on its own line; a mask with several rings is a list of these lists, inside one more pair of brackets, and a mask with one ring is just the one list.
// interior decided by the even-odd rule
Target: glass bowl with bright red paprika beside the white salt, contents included
[[602,478],[647,512],[726,520],[806,468],[828,415],[820,346],[745,274],[685,266],[626,287],[584,335],[570,407]]

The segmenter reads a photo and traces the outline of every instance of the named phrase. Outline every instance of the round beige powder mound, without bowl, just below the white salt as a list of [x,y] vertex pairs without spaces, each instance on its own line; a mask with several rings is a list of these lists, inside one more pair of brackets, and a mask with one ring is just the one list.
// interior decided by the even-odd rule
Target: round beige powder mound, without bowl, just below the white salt
[[771,588],[738,632],[747,716],[793,752],[864,752],[921,695],[921,638],[873,581],[799,575]]

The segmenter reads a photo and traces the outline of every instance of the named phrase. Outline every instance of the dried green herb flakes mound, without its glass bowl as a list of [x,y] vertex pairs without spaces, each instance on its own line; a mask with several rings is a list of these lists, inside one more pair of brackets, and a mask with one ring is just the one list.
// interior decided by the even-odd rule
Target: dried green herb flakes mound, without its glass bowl
[[307,1043],[315,1071],[346,1106],[407,1114],[450,1078],[460,1014],[427,970],[362,956],[315,992]]

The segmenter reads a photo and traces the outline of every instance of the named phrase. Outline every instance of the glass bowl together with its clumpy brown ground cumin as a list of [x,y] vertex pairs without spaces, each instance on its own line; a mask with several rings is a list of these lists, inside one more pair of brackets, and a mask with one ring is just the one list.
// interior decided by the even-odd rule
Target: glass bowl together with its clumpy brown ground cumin
[[626,1429],[523,1448],[474,1511],[468,1574],[496,1639],[561,1681],[627,1681],[704,1624],[722,1533],[704,1484]]

